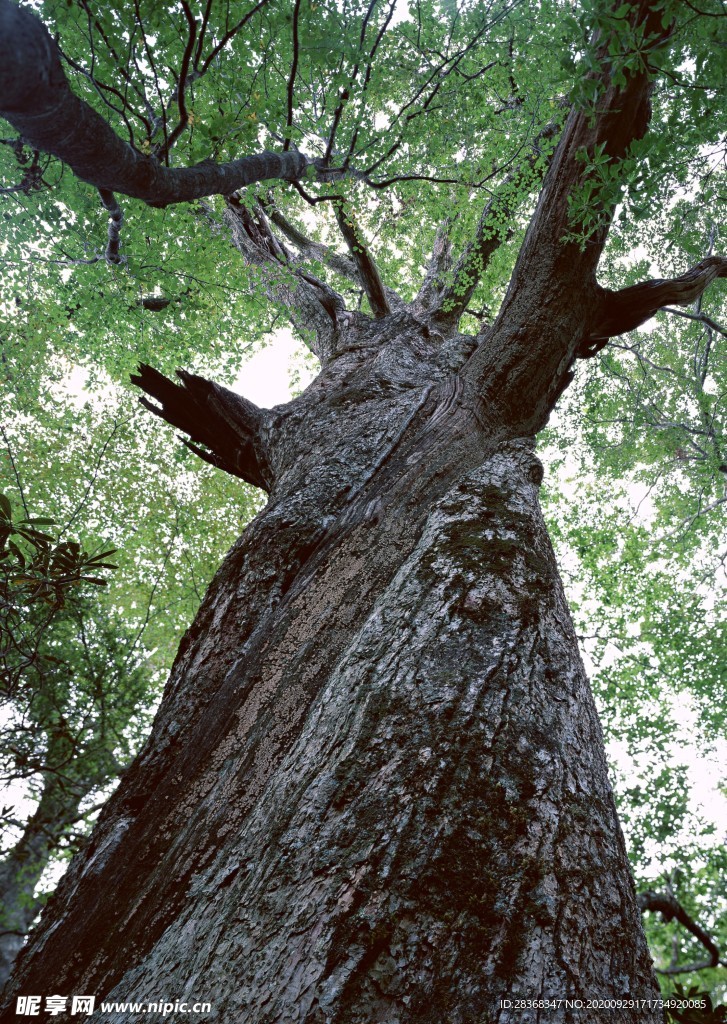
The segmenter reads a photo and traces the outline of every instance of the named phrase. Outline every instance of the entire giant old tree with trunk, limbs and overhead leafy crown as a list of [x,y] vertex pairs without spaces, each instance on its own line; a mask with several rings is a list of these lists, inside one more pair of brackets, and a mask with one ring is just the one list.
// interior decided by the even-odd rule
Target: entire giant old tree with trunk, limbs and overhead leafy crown
[[[118,80],[95,49],[67,63],[131,147],[7,2],[2,114],[99,190],[109,241],[91,258],[110,273],[122,258],[115,193],[158,206],[222,195],[257,294],[290,311],[320,373],[273,410],[199,374],[173,383],[144,362],[135,377],[197,455],[268,502],[212,583],[153,733],[12,992],[153,1000],[162,977],[213,992],[221,1019],[259,1022],[509,1020],[506,996],[654,997],[534,436],[576,359],[727,273],[710,254],[670,279],[596,280],[618,203],[633,208],[652,175],[664,185],[653,168],[668,153],[681,173],[693,148],[676,113],[685,96],[714,100],[721,11],[415,5],[392,25],[394,5],[372,3],[339,30],[337,8],[298,0],[239,16],[183,3],[175,69],[178,20],[137,11],[124,31],[119,12],[82,7]],[[73,12],[55,16],[61,40],[78,33]],[[230,104],[246,113],[225,130]],[[229,132],[256,150],[263,129],[275,157],[223,159]],[[174,165],[190,131],[198,163]],[[16,151],[27,191],[45,171]],[[386,203],[387,188],[388,223],[366,198]],[[433,222],[424,188],[442,189]],[[293,196],[325,211],[322,226],[295,222]],[[213,229],[217,210],[201,210]],[[397,246],[394,224],[412,238]],[[459,330],[466,314],[474,334]]]

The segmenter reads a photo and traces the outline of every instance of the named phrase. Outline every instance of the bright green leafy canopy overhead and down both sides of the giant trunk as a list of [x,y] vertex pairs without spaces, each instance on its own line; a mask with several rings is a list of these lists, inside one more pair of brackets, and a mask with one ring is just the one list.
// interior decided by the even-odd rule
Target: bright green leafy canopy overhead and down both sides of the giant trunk
[[541,446],[638,877],[669,872],[723,950],[723,858],[682,757],[724,751],[720,0],[38,10],[50,34],[0,3],[3,487],[119,549],[99,607],[143,627],[154,680],[264,480],[148,422],[137,364],[231,386],[284,321],[311,344],[341,300],[377,317],[436,296],[442,333],[481,338],[569,110],[596,122],[606,67],[624,90],[648,77],[650,118],[575,154],[557,230],[588,256],[608,229],[601,314]]

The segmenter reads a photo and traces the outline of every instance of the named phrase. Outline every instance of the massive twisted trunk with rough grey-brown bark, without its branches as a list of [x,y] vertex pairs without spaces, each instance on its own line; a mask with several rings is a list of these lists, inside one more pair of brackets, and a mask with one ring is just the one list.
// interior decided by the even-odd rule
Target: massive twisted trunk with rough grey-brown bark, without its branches
[[657,995],[542,467],[458,373],[471,347],[353,314],[266,414],[269,504],[14,992],[163,990],[245,1024]]

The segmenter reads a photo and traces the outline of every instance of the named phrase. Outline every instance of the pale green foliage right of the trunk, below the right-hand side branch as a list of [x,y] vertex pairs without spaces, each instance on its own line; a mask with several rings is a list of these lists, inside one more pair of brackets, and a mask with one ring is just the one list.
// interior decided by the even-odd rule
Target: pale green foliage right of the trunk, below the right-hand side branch
[[[710,294],[718,325],[721,292]],[[542,437],[544,498],[637,880],[659,889],[678,879],[678,898],[722,950],[727,380],[716,329],[668,313],[649,327],[613,339],[564,397]],[[713,795],[700,804],[695,785]],[[702,958],[679,924],[647,915],[645,926],[659,967],[675,942],[679,964]],[[701,972],[699,984],[723,991],[724,970]]]

